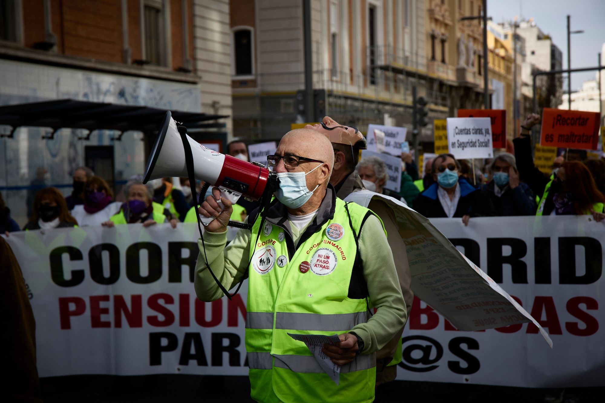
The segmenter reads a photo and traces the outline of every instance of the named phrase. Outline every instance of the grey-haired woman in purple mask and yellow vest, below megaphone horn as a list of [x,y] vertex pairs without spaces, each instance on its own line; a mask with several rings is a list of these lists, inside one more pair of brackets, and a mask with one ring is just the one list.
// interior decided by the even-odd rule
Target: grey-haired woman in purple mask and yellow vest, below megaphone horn
[[154,211],[152,205],[154,189],[149,182],[143,185],[142,175],[136,175],[128,180],[124,187],[124,194],[126,202],[122,204],[117,214],[102,223],[103,226],[111,228],[116,224],[143,223],[144,227],[148,227],[156,223],[169,222],[172,228],[176,228],[176,219],[168,220],[166,215]]

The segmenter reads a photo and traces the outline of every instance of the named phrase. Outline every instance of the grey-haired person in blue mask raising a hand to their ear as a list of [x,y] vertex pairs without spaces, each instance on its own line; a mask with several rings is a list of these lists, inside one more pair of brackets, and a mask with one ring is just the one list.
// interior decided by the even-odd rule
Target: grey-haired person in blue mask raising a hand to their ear
[[535,197],[529,186],[519,181],[515,157],[508,152],[497,156],[489,165],[492,181],[483,188],[488,191],[498,215],[534,215]]

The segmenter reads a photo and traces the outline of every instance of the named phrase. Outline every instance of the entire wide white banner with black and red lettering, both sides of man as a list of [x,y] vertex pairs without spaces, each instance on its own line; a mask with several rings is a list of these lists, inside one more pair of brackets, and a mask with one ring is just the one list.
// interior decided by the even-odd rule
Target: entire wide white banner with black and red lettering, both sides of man
[[[425,225],[414,213],[397,213],[397,220],[402,238],[416,237]],[[452,325],[456,318],[447,321],[414,300],[398,379],[605,386],[603,223],[557,216],[471,218],[468,227],[457,218],[438,218],[431,224],[526,307],[555,345],[551,350],[526,323],[460,332]],[[198,301],[192,283],[198,236],[194,223],[174,230],[129,224],[12,232],[6,239],[31,289],[40,376],[247,375],[247,282],[232,301]],[[491,316],[509,307],[481,301],[462,304]],[[471,309],[457,310],[462,315]]]

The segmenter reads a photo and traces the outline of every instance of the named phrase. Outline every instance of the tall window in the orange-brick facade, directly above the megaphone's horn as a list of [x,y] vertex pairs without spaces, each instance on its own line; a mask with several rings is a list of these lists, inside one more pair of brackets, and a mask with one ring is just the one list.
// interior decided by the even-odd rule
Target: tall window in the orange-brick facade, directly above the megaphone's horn
[[150,64],[166,65],[166,30],[162,1],[145,0],[143,24],[145,27],[145,60]]

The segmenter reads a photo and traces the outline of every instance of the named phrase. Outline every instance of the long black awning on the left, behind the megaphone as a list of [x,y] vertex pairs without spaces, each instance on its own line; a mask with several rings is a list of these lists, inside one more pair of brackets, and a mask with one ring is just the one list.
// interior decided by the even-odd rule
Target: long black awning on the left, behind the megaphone
[[[224,128],[224,122],[209,121],[227,117],[197,112],[171,113],[174,120],[185,126],[204,128]],[[11,134],[20,126],[46,127],[53,131],[87,129],[91,133],[98,129],[155,133],[165,114],[166,110],[149,106],[59,99],[0,106],[0,125],[11,126]],[[200,125],[201,122],[208,123]]]

